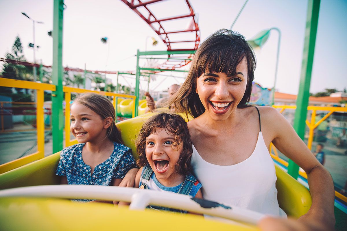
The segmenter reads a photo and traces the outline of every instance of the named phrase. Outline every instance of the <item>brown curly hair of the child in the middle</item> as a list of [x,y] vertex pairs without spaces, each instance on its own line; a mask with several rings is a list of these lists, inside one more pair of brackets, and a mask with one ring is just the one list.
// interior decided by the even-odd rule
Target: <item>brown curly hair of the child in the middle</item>
[[180,175],[189,175],[192,170],[192,141],[188,131],[187,123],[176,114],[165,112],[159,113],[149,118],[142,126],[140,134],[136,138],[136,151],[138,153],[137,165],[144,167],[148,161],[146,158],[146,137],[154,133],[157,128],[165,128],[168,133],[175,135],[172,149],[178,150],[183,145],[182,152],[176,163],[176,172]]

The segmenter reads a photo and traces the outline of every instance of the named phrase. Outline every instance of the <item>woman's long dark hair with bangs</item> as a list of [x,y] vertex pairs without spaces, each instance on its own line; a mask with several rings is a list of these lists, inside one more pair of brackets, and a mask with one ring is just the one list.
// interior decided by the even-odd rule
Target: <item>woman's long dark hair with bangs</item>
[[247,107],[251,97],[252,81],[256,67],[255,55],[245,37],[228,29],[221,29],[210,35],[197,49],[187,78],[176,96],[168,101],[168,105],[175,104],[178,108],[185,108],[194,118],[205,112],[205,108],[196,93],[196,81],[206,71],[223,72],[235,75],[237,65],[247,61],[247,85],[238,108]]

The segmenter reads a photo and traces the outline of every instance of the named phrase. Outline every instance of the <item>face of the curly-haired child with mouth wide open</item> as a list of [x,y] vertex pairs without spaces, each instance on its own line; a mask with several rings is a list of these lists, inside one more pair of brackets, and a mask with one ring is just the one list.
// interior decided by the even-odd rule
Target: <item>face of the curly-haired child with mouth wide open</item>
[[[179,159],[183,145],[174,149],[175,135],[164,128],[157,128],[154,133],[146,137],[146,158],[153,169],[156,178],[163,185],[180,181],[176,172],[176,163]],[[181,183],[181,182],[179,182]]]

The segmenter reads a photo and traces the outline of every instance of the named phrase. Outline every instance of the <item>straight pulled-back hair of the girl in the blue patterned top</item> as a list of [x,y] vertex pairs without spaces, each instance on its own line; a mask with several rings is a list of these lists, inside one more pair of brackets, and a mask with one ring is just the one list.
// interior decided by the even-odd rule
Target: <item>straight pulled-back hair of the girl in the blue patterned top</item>
[[112,117],[111,126],[107,128],[107,137],[110,141],[124,144],[120,136],[120,131],[116,125],[116,112],[111,101],[101,95],[95,93],[86,93],[79,95],[74,102],[82,104],[93,112],[98,114],[102,119]]

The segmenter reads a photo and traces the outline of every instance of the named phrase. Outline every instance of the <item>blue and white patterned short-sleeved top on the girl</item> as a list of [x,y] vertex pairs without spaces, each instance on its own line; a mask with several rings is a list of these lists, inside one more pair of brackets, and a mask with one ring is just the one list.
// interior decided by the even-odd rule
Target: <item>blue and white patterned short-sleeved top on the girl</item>
[[[71,185],[110,185],[113,178],[122,179],[136,162],[132,150],[123,144],[114,142],[111,156],[95,166],[91,174],[90,166],[84,163],[82,149],[84,143],[75,144],[63,149],[56,171],[58,176],[66,176]],[[83,200],[89,201],[89,200]]]

